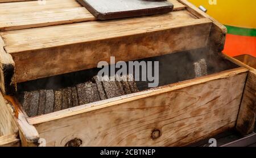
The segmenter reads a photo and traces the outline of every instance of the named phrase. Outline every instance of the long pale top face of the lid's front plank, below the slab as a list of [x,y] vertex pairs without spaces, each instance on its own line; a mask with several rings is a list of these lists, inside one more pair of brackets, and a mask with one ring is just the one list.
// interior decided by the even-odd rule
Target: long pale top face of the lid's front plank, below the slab
[[165,15],[7,31],[0,35],[6,43],[6,52],[18,53],[205,23],[210,23],[210,20],[196,19],[188,11],[182,10]]

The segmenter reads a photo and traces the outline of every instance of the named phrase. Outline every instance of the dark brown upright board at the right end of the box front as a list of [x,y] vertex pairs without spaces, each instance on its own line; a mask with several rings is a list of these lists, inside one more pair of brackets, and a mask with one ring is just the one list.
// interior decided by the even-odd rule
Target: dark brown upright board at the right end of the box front
[[256,119],[256,70],[248,73],[245,90],[237,118],[236,129],[241,134],[253,133]]

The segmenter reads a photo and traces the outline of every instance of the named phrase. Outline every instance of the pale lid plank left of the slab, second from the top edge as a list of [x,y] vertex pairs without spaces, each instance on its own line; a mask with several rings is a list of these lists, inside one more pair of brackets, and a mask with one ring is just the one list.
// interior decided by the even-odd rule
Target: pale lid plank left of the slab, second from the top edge
[[[18,14],[18,15],[17,15]],[[55,10],[8,13],[0,15],[0,31],[44,27],[95,20],[84,7],[60,8]]]

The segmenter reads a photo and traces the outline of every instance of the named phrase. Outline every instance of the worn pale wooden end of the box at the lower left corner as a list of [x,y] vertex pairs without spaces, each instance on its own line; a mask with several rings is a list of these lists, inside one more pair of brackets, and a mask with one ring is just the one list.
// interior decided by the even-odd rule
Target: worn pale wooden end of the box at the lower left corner
[[0,146],[38,146],[39,134],[35,127],[27,122],[23,110],[16,106],[9,96],[0,93],[0,122],[5,130],[0,136]]

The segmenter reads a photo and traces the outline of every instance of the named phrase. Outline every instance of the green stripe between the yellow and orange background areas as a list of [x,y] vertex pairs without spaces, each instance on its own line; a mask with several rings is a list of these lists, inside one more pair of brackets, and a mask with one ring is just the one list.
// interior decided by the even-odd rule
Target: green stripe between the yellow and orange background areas
[[233,27],[233,26],[229,26],[229,25],[225,25],[225,27],[228,28],[228,33],[232,34],[232,35],[256,37],[256,29],[255,28]]

